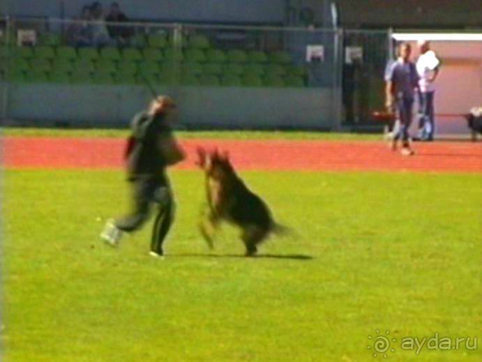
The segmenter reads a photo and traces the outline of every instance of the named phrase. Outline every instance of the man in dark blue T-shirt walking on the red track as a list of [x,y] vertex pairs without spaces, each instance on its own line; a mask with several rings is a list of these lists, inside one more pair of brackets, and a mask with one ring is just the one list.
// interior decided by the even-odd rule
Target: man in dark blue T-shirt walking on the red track
[[408,43],[398,46],[398,59],[386,72],[386,108],[389,112],[396,111],[400,119],[400,129],[393,135],[391,147],[397,149],[398,139],[402,139],[403,156],[411,156],[414,151],[410,148],[409,127],[412,123],[415,89],[419,87],[419,75],[415,64],[410,61],[412,48]]

